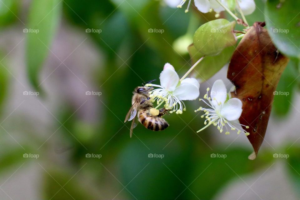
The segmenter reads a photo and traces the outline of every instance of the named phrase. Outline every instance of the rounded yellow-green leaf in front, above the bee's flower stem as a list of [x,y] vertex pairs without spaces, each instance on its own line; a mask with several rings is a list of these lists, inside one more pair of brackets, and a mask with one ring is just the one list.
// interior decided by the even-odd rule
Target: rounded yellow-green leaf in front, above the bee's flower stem
[[194,34],[194,46],[203,55],[212,56],[220,53],[225,47],[236,44],[233,34],[235,22],[216,19],[200,26]]

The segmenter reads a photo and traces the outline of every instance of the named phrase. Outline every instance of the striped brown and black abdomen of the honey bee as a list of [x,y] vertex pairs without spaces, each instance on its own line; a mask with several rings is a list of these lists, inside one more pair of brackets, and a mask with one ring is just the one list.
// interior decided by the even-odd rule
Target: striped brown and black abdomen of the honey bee
[[138,121],[144,125],[144,127],[153,131],[162,131],[168,128],[168,122],[161,117],[147,115],[148,109],[140,110],[138,113]]

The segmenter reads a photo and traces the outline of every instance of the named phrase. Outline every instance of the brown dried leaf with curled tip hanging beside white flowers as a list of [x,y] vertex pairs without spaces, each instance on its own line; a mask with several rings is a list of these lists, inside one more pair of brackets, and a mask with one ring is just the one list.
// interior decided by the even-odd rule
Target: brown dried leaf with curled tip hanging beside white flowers
[[264,140],[280,76],[287,66],[288,58],[274,47],[264,23],[255,22],[232,55],[227,78],[235,85],[232,97],[243,103],[239,121],[249,126],[249,139],[254,152],[249,159],[255,159]]

